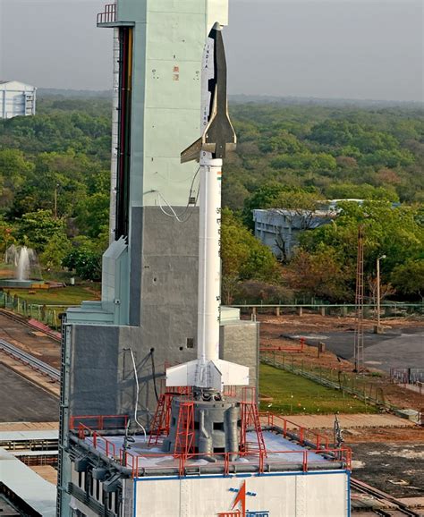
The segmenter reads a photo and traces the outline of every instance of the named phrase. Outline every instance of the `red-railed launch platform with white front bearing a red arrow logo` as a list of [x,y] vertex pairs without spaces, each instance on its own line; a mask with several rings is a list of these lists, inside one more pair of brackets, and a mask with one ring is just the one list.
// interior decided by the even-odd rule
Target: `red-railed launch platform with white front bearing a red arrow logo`
[[73,514],[350,517],[348,451],[311,450],[273,428],[264,430],[267,454],[261,458],[251,453],[226,461],[223,454],[216,462],[182,462],[148,447],[142,436],[134,438],[124,453],[122,434],[70,436]]

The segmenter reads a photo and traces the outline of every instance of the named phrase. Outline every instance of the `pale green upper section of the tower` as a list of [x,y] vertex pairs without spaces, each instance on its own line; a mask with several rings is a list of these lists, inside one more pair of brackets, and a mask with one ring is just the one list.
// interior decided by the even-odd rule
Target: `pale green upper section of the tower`
[[181,165],[180,153],[199,138],[202,49],[227,10],[216,0],[118,4],[118,21],[135,23],[131,206],[187,205],[195,167]]

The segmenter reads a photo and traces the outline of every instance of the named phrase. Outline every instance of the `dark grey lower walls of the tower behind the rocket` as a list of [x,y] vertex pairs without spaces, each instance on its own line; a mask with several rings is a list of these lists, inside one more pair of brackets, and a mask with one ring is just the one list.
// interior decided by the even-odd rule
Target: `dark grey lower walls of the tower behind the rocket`
[[[134,416],[131,349],[140,383],[138,419],[147,423],[156,411],[165,365],[195,359],[199,208],[190,208],[186,216],[179,223],[157,207],[132,208],[131,326],[74,326],[72,415]],[[187,338],[194,338],[194,348],[187,347]],[[221,342],[222,359],[248,366],[250,383],[256,386],[258,324],[227,323],[221,327]]]

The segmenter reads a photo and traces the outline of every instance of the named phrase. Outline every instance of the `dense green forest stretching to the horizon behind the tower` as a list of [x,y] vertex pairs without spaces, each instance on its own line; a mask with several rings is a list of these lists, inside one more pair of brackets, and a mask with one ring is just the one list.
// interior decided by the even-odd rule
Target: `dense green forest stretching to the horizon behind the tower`
[[[369,295],[424,294],[424,112],[417,106],[233,103],[239,144],[223,182],[225,300],[352,301],[358,225]],[[111,101],[49,95],[38,114],[0,121],[0,252],[13,242],[45,267],[98,279],[108,236]],[[342,203],[334,225],[306,231],[278,263],[252,235],[254,208]]]

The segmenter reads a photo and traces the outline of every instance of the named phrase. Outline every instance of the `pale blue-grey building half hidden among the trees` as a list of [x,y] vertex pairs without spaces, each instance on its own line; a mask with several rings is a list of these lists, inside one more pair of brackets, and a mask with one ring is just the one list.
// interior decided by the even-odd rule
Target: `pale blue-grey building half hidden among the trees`
[[269,208],[253,210],[255,237],[272,250],[279,260],[290,259],[299,243],[301,232],[330,223],[338,211],[328,202],[322,210],[289,210]]

